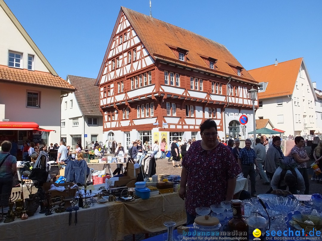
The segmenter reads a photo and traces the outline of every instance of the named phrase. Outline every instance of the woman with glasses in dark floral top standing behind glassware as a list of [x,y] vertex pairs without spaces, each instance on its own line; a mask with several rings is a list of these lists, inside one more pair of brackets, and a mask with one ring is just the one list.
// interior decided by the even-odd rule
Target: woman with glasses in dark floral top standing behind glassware
[[217,140],[215,121],[204,121],[200,134],[202,140],[192,142],[182,161],[179,196],[185,198],[187,225],[194,223],[195,208],[232,200],[241,172],[232,151]]

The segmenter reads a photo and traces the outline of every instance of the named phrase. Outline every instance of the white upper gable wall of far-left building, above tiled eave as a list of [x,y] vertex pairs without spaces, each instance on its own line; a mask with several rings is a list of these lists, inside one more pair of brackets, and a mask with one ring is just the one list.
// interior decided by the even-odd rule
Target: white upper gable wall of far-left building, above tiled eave
[[0,65],[8,65],[8,50],[13,50],[23,53],[23,68],[27,68],[28,54],[33,54],[35,56],[35,70],[49,72],[2,8],[0,8],[0,23],[2,36],[0,41]]

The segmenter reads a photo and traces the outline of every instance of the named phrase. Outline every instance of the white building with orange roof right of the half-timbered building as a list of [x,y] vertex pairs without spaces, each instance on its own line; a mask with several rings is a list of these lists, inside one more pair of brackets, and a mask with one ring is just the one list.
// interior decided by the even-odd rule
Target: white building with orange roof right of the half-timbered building
[[256,118],[270,119],[285,135],[309,135],[317,129],[317,97],[303,58],[249,70],[262,88]]

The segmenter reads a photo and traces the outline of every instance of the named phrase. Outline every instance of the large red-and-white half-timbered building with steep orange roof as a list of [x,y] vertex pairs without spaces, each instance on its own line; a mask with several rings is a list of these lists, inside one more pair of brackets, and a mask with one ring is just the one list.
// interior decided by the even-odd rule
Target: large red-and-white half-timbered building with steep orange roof
[[[198,139],[208,118],[220,138],[252,131],[248,90],[258,84],[225,46],[124,7],[96,85],[103,138],[126,145],[132,139]],[[244,128],[242,114],[249,119]]]

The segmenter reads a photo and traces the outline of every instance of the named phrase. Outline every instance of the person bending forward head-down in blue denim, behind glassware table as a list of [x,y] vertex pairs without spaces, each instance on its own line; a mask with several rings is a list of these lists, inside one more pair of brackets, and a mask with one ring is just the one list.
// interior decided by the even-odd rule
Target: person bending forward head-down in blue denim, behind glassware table
[[304,194],[305,192],[303,176],[296,167],[286,169],[279,166],[273,175],[270,185],[273,190],[286,190],[286,187],[289,187],[289,192],[292,194]]

